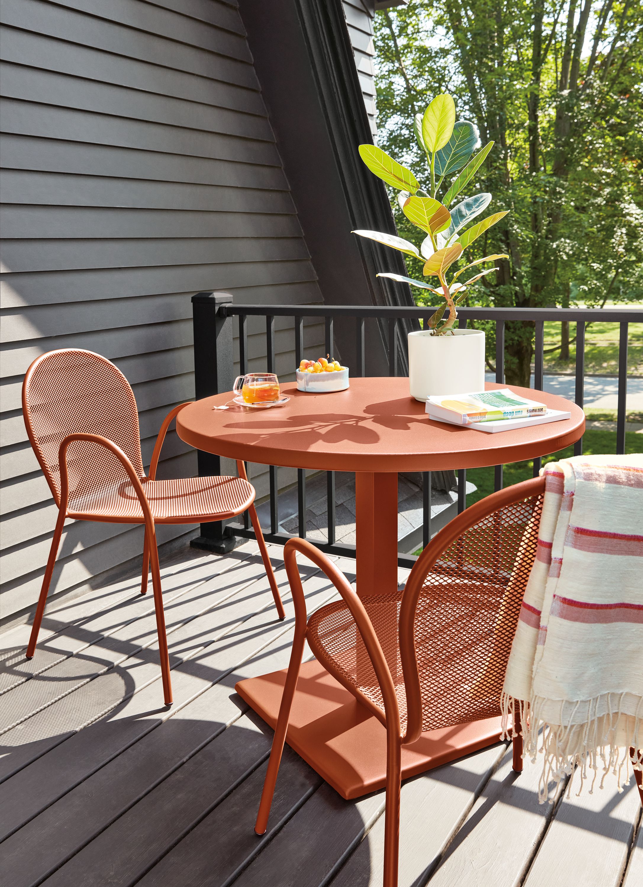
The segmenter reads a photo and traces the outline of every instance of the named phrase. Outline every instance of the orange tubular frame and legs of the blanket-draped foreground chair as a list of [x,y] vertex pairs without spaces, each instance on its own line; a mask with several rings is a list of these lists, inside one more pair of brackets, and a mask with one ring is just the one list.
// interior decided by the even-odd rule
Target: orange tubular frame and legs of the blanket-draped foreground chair
[[[377,707],[361,694],[357,687],[349,686],[347,683],[344,686],[361,703],[365,703],[386,728],[384,885],[385,887],[397,887],[400,842],[401,748],[403,745],[416,742],[422,733],[422,698],[414,640],[414,623],[417,601],[425,583],[426,574],[451,543],[464,533],[464,530],[469,529],[489,514],[493,514],[499,508],[540,495],[543,492],[544,478],[536,477],[491,494],[467,508],[462,514],[458,514],[433,538],[417,559],[414,568],[409,574],[409,579],[402,595],[399,623],[400,653],[408,711],[407,728],[404,732],[402,732],[401,728],[400,711],[393,677],[377,639],[377,633],[360,598],[348,584],[344,575],[318,548],[300,538],[292,538],[286,543],[284,546],[284,561],[292,598],[295,603],[295,638],[293,640],[277,726],[274,732],[266,780],[259,803],[258,817],[255,825],[255,832],[258,835],[265,834],[267,828],[308,627],[306,600],[297,567],[297,553],[304,554],[310,561],[313,561],[337,588],[353,616],[379,682],[384,700],[384,716],[381,710],[376,710]],[[335,677],[337,678],[337,675]],[[520,773],[522,770],[522,738],[520,736],[519,721],[516,721],[514,724],[512,750],[513,769]]]

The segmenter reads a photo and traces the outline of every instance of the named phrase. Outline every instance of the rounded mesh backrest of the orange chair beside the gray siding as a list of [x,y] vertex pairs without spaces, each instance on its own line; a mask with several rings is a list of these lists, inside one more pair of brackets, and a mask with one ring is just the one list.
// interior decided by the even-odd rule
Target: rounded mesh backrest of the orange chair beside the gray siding
[[[144,477],[139,414],[130,383],[114,364],[92,351],[50,351],[29,367],[23,413],[36,457],[60,502],[60,443],[71,434],[93,434],[116,443]],[[69,502],[127,482],[122,463],[104,447],[75,442],[67,450]]]

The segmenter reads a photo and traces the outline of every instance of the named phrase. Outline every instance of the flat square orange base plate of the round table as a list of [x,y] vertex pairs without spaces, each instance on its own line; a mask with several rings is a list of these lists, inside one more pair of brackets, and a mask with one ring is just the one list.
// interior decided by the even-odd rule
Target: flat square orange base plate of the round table
[[[273,729],[286,674],[273,671],[234,687]],[[402,779],[484,749],[499,737],[499,717],[427,730],[402,746]],[[346,800],[385,787],[385,727],[316,659],[299,671],[286,742]]]

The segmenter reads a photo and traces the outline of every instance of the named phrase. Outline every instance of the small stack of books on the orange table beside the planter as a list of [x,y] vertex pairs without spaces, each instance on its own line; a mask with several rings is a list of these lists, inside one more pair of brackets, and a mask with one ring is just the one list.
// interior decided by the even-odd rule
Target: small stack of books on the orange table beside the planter
[[511,389],[473,391],[428,397],[426,412],[437,422],[466,425],[476,431],[507,431],[569,419],[565,410],[549,410],[545,404],[514,394]]

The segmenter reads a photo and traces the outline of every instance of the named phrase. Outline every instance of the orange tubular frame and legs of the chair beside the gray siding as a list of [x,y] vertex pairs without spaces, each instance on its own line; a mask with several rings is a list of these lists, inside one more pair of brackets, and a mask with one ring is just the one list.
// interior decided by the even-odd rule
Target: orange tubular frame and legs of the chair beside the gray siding
[[[261,554],[261,559],[264,563],[264,567],[266,569],[266,575],[268,577],[268,582],[270,584],[270,589],[273,593],[274,604],[277,608],[277,614],[280,620],[285,619],[285,610],[282,604],[282,598],[279,593],[279,588],[277,585],[277,580],[274,577],[273,566],[270,562],[270,557],[268,555],[268,551],[266,548],[266,542],[263,537],[263,533],[261,531],[261,526],[258,521],[257,509],[254,505],[254,491],[252,498],[250,499],[250,505],[247,505],[242,511],[233,510],[226,512],[217,512],[216,514],[195,514],[195,515],[181,515],[179,517],[163,517],[155,520],[154,515],[152,514],[152,510],[150,508],[149,502],[147,500],[147,496],[144,489],[144,484],[147,481],[155,481],[156,477],[156,469],[158,467],[159,459],[161,456],[161,450],[163,447],[163,442],[165,440],[165,436],[167,435],[168,429],[171,426],[171,422],[176,419],[177,415],[181,410],[183,410],[188,404],[192,403],[192,401],[186,401],[183,404],[179,404],[175,406],[171,411],[167,414],[161,428],[159,430],[158,436],[156,437],[154,451],[152,453],[152,459],[150,461],[149,471],[147,476],[139,477],[135,467],[132,465],[131,459],[127,456],[127,454],[123,451],[121,447],[118,446],[114,441],[109,440],[107,437],[97,434],[91,434],[87,432],[78,432],[75,434],[69,434],[65,436],[60,442],[60,447],[58,451],[58,466],[60,470],[60,490],[57,488],[56,483],[53,481],[52,470],[51,468],[44,462],[44,458],[42,457],[41,448],[38,443],[36,434],[34,432],[34,428],[32,426],[31,421],[31,412],[29,404],[29,382],[36,372],[37,368],[43,363],[43,361],[51,358],[57,354],[66,354],[66,355],[85,355],[91,358],[95,358],[97,362],[102,362],[103,364],[110,365],[113,367],[116,373],[122,376],[122,381],[124,385],[127,385],[130,389],[132,401],[133,401],[133,392],[131,392],[131,387],[129,386],[129,382],[125,379],[122,373],[120,373],[117,368],[107,361],[105,357],[101,357],[98,354],[95,354],[92,351],[82,351],[81,349],[64,349],[64,351],[50,351],[47,354],[42,355],[41,357],[37,357],[36,360],[29,366],[28,371],[25,375],[25,380],[22,385],[22,412],[25,419],[25,426],[27,428],[27,434],[29,438],[29,443],[34,449],[36,453],[36,458],[40,463],[41,468],[43,469],[43,473],[45,475],[46,481],[49,485],[50,490],[52,491],[52,497],[58,506],[58,518],[56,520],[56,526],[53,531],[52,538],[52,546],[50,548],[49,557],[47,559],[47,564],[44,570],[43,577],[43,585],[41,587],[40,596],[38,598],[38,603],[36,606],[36,613],[34,615],[34,621],[31,626],[31,634],[29,636],[28,647],[26,656],[28,659],[32,659],[36,652],[36,644],[38,640],[38,633],[40,632],[40,626],[43,621],[44,616],[44,607],[47,600],[47,595],[49,593],[49,587],[52,582],[53,569],[56,563],[56,558],[58,556],[58,551],[60,547],[60,538],[62,536],[62,530],[65,524],[65,520],[67,517],[72,518],[74,520],[90,520],[90,521],[98,521],[98,522],[109,522],[109,523],[142,523],[145,526],[145,536],[143,543],[143,563],[142,563],[142,574],[141,574],[141,585],[140,585],[140,593],[147,593],[147,581],[150,573],[150,569],[152,572],[152,588],[154,592],[154,601],[155,601],[155,617],[156,617],[156,632],[158,635],[159,642],[159,657],[161,661],[161,674],[163,679],[163,699],[166,705],[171,705],[172,703],[172,690],[171,690],[171,666],[170,666],[170,657],[168,652],[168,644],[165,630],[165,616],[163,612],[163,592],[161,586],[161,569],[159,565],[158,559],[158,546],[156,542],[156,532],[155,532],[155,524],[158,523],[197,523],[197,522],[209,522],[209,521],[220,521],[225,520],[228,517],[234,517],[236,514],[242,514],[242,511],[248,511],[250,513],[250,521],[252,522],[253,529],[255,530],[255,534],[257,537],[257,542],[259,546],[259,552]],[[134,402],[135,403],[135,402]],[[83,514],[82,512],[69,511],[69,473],[67,467],[67,450],[72,443],[78,442],[86,442],[93,443],[97,446],[103,447],[107,451],[109,451],[123,466],[125,473],[127,474],[132,488],[136,493],[137,498],[139,499],[139,504],[142,511],[142,517],[137,516],[127,516],[123,518],[121,515],[106,516],[101,514]],[[245,465],[241,459],[237,460],[237,472],[239,477],[249,483],[248,475],[246,474]],[[97,488],[99,488],[99,479],[97,479]]]

